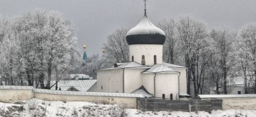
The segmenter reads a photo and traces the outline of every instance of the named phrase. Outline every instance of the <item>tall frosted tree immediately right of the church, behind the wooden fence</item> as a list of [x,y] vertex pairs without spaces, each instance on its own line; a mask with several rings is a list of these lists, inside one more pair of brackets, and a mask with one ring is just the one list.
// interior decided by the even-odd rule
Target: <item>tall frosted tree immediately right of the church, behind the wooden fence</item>
[[[200,74],[203,74],[203,72],[199,72],[199,61],[205,47],[204,43],[207,37],[206,27],[204,23],[193,20],[189,16],[181,17],[177,21],[179,49],[185,59],[184,65],[188,67],[187,93],[190,94],[190,83],[193,83],[195,96],[199,93],[200,83],[203,82],[200,80]],[[191,80],[193,82],[191,82]]]

